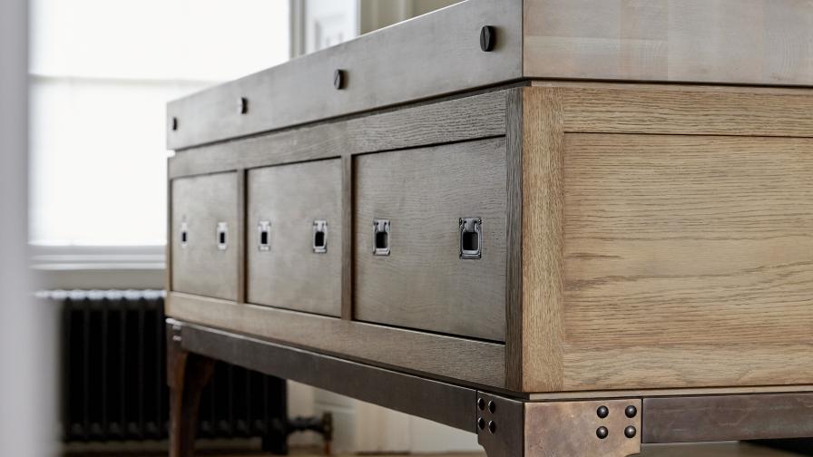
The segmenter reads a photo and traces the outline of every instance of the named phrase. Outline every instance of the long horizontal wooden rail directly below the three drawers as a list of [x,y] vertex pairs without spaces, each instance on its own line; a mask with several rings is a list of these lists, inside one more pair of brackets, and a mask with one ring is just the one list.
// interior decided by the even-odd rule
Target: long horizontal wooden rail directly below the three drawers
[[505,382],[502,344],[179,293],[168,295],[166,313],[191,323],[228,326],[244,335],[465,385],[502,387]]

